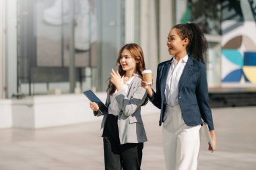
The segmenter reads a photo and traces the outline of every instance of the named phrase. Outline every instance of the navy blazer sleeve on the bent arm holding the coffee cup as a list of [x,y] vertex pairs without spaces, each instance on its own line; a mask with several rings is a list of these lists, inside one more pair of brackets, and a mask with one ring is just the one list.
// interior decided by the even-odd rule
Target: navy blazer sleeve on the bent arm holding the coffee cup
[[161,101],[161,90],[160,90],[159,76],[160,76],[160,65],[158,65],[158,70],[156,72],[156,92],[152,89],[153,95],[152,95],[152,97],[150,97],[148,95],[148,98],[156,106],[156,108],[161,109],[162,101]]

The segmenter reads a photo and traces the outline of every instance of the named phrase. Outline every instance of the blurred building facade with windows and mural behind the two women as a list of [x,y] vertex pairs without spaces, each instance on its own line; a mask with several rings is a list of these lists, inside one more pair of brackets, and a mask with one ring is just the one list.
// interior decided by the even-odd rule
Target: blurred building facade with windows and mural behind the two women
[[[245,103],[256,105],[256,0],[1,0],[0,127],[1,120],[13,126],[40,110],[40,96],[59,101],[105,91],[119,48],[130,42],[143,48],[156,77],[157,64],[170,58],[170,28],[187,22],[199,24],[207,38],[208,85],[221,94],[216,101],[227,104],[223,93],[243,91],[251,96]],[[24,103],[32,110],[13,118]]]

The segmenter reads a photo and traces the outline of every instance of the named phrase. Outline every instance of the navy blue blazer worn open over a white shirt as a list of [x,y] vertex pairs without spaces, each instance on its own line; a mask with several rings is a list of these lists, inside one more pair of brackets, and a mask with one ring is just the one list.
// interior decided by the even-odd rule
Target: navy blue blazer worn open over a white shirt
[[[165,104],[165,86],[168,72],[170,69],[170,60],[161,62],[158,65],[156,76],[156,92],[149,97],[150,101],[161,110],[159,126],[164,122]],[[189,58],[179,81],[179,105],[183,120],[187,126],[196,126],[205,121],[210,130],[214,130],[212,120],[212,111],[209,105],[208,88],[205,65],[197,60]]]

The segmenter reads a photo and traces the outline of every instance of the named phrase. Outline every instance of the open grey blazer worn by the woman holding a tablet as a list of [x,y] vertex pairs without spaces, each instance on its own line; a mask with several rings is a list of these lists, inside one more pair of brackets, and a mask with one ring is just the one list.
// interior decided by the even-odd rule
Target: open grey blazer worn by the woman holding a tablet
[[[135,76],[129,85],[127,94],[125,90],[121,90],[115,93],[114,97],[122,108],[117,120],[120,143],[146,142],[148,139],[141,119],[141,104],[146,99],[147,93],[146,89],[141,87],[141,79]],[[110,95],[107,91],[106,107],[109,104]],[[96,116],[102,115],[104,117],[101,123],[100,136],[103,134],[106,118],[108,117],[108,114],[102,114],[100,111]]]

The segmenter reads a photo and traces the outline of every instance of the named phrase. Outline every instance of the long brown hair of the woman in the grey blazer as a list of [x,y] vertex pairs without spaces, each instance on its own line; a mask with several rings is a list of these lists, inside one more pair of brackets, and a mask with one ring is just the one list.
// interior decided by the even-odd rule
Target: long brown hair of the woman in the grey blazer
[[[143,56],[143,51],[141,47],[135,43],[131,44],[126,44],[119,50],[119,55],[117,58],[117,66],[118,66],[118,72],[121,76],[125,75],[125,71],[122,68],[122,65],[120,65],[120,59],[121,59],[121,54],[123,50],[128,50],[131,53],[131,57],[135,59],[136,62],[136,71],[137,74],[141,75],[141,72],[146,69],[145,67],[145,62],[144,62],[144,56]],[[108,82],[108,89],[110,89],[110,95],[113,95],[115,91],[117,90],[117,87],[111,83],[111,81]]]

